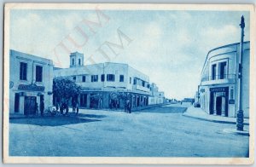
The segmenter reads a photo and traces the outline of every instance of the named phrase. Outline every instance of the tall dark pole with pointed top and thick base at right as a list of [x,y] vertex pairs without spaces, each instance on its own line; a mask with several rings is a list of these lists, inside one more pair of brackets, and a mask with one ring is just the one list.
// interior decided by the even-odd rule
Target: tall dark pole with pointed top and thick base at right
[[240,43],[240,60],[239,60],[239,69],[238,69],[238,80],[239,80],[239,107],[238,112],[236,113],[236,130],[243,131],[243,111],[242,111],[242,58],[243,58],[243,37],[244,37],[244,17],[241,16],[241,43]]

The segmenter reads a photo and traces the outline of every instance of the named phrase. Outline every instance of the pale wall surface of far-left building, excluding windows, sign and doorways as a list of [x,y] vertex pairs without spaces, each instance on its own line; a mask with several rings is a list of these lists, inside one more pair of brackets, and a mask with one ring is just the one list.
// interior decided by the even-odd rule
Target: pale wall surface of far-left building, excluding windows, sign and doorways
[[[26,80],[20,80],[20,62],[27,63]],[[36,66],[43,66],[43,81],[36,81]],[[25,92],[26,96],[36,96],[39,104],[39,94],[44,95],[44,104],[46,107],[52,106],[52,95],[48,95],[52,92],[53,84],[53,64],[52,60],[44,59],[35,55],[28,55],[25,53],[10,50],[10,77],[9,81],[14,83],[14,86],[9,91],[9,112],[15,112],[15,93]],[[44,86],[44,91],[29,91],[20,90],[18,86],[20,84],[29,85],[36,83],[38,86]],[[24,96],[20,96],[20,113],[24,113]]]

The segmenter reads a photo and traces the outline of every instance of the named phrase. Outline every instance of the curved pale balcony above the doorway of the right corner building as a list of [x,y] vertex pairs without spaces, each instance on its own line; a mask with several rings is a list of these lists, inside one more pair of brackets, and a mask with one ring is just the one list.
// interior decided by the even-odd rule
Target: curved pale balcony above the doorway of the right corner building
[[201,78],[201,85],[236,83],[236,74],[224,74]]

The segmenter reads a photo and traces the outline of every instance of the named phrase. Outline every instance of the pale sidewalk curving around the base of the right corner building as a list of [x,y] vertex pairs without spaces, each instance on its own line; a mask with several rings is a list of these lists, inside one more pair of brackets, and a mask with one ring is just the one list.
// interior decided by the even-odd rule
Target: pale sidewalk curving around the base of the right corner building
[[[211,121],[215,123],[236,124],[236,118],[209,115],[207,114],[207,112],[204,112],[200,107],[194,107],[194,106],[188,107],[187,111],[183,112],[183,116]],[[248,118],[244,118],[244,124],[249,125]]]

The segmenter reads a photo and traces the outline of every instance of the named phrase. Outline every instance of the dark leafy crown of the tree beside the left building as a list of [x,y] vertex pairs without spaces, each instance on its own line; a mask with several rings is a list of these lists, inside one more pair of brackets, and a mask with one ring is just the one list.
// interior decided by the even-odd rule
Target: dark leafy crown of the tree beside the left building
[[59,102],[67,102],[80,94],[81,87],[69,78],[54,78],[53,94]]

